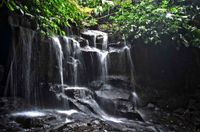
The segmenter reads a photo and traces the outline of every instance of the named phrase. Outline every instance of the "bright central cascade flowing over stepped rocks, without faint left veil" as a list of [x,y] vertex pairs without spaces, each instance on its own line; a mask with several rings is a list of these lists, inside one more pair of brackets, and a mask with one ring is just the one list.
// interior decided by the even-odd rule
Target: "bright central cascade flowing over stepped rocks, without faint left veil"
[[[118,47],[118,48],[109,47],[109,50],[107,50],[107,45],[108,45],[107,34],[103,34],[101,32],[100,34],[98,33],[99,33],[98,31],[94,31],[94,30],[87,31],[85,34],[93,35],[92,37],[93,39],[91,39],[93,44],[91,44],[91,41],[90,41],[89,44],[86,43],[85,45],[82,45],[82,46],[80,46],[80,43],[73,38],[63,37],[64,49],[62,49],[59,39],[54,38],[54,42],[56,42],[54,45],[58,51],[57,58],[59,60],[60,76],[61,78],[63,78],[62,77],[63,74],[66,74],[66,73],[63,73],[63,68],[62,68],[62,64],[66,61],[67,62],[66,64],[69,67],[68,78],[69,80],[71,80],[71,81],[64,81],[66,82],[66,85],[63,85],[63,83],[61,84],[63,86],[62,87],[63,89],[62,89],[62,93],[59,93],[59,95],[61,95],[63,99],[67,100],[68,103],[71,102],[72,104],[74,104],[79,110],[83,111],[84,113],[87,113],[93,116],[98,115],[102,119],[105,119],[105,120],[121,122],[121,120],[115,119],[111,115],[107,114],[106,113],[107,110],[104,111],[105,110],[104,107],[107,107],[106,105],[109,105],[107,104],[107,102],[110,102],[110,101],[104,102],[103,100],[114,101],[116,99],[121,99],[121,98],[128,99],[127,97],[128,92],[125,93],[124,95],[120,95],[122,91],[119,90],[119,91],[114,92],[116,94],[119,94],[115,96],[112,93],[112,90],[114,90],[113,86],[103,85],[103,87],[101,87],[102,91],[96,92],[96,94],[98,93],[97,96],[103,99],[103,100],[100,99],[102,103],[100,103],[99,105],[99,102],[97,102],[94,97],[93,91],[90,90],[88,87],[81,86],[81,83],[80,83],[80,80],[82,78],[85,78],[88,75],[90,76],[89,72],[92,69],[90,68],[88,69],[87,68],[88,65],[86,65],[86,67],[84,65],[84,64],[89,63],[89,66],[92,66],[92,68],[94,68],[93,70],[95,70],[93,72],[97,73],[96,77],[94,77],[93,80],[99,80],[103,84],[106,84],[107,78],[109,77],[108,70],[111,68],[109,67],[108,63],[112,63],[112,60],[110,60],[109,58],[110,58],[110,55],[114,53],[114,54],[118,54],[118,56],[120,57],[120,61],[117,62],[117,65],[120,65],[121,68],[124,68],[125,70],[126,68],[128,68],[128,73],[127,73],[127,76],[129,76],[128,87],[133,87],[132,84],[134,83],[134,76],[133,76],[134,66],[133,66],[133,62],[131,58],[130,48],[126,45],[126,42],[124,42],[124,45],[122,45],[121,47]],[[102,41],[99,41],[98,38],[101,38]],[[102,45],[102,47],[99,45]],[[87,55],[87,56],[84,56],[84,55]],[[91,59],[88,60],[87,57]],[[86,69],[88,70],[85,71]],[[107,86],[111,88],[107,88]],[[107,95],[108,97],[107,96],[104,97],[104,95]],[[132,110],[137,110],[138,96],[135,90],[133,90],[130,96],[131,96],[130,101],[133,103],[132,105],[134,108],[132,108],[131,104],[124,101],[121,101],[121,102],[117,101],[116,103],[122,103],[121,105],[124,105],[124,107],[127,107],[127,110],[131,112]],[[118,109],[117,105],[119,104],[115,104],[116,108],[114,107],[114,109]],[[113,112],[111,113],[113,114]],[[135,115],[135,113],[133,114]],[[123,116],[124,114],[118,114],[118,115]],[[137,115],[135,116],[138,117]],[[138,117],[137,119],[140,119],[140,117]]]

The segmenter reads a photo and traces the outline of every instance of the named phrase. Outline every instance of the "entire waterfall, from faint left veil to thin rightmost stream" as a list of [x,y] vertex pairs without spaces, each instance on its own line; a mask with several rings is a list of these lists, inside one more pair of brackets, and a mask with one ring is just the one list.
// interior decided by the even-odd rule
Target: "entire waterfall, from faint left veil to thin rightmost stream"
[[[126,45],[126,42],[121,47],[109,46],[108,35],[100,31],[87,31],[85,35],[89,35],[91,38],[88,38],[89,44],[86,41],[86,44],[83,45],[72,37],[52,37],[50,44],[48,41],[49,49],[46,50],[49,53],[45,54],[45,57],[41,59],[44,54],[37,57],[34,56],[37,53],[37,51],[33,51],[34,33],[22,30],[19,39],[22,45],[21,52],[17,52],[14,55],[15,59],[11,63],[11,71],[14,71],[10,72],[9,79],[9,82],[11,82],[10,87],[14,88],[11,93],[21,96],[19,93],[24,91],[24,93],[22,92],[22,97],[30,101],[33,98],[32,96],[36,99],[37,94],[42,96],[41,99],[46,99],[50,95],[49,93],[46,94],[45,90],[47,90],[52,93],[52,96],[55,96],[55,100],[62,100],[65,109],[75,107],[84,113],[104,120],[121,122],[120,119],[115,118],[115,111],[121,112],[122,114],[118,113],[117,115],[121,117],[124,110],[118,107],[124,105],[125,102],[126,106],[123,106],[123,108],[126,108],[125,111],[133,112],[136,110],[138,101],[136,91],[133,89],[131,89],[133,90],[131,92],[125,91],[125,96],[120,96],[120,94],[124,94],[123,90],[132,88],[134,83],[134,65],[130,48]],[[39,48],[41,47],[36,49]],[[40,50],[44,51],[45,48]],[[116,54],[117,58],[111,58],[113,53]],[[23,59],[20,60],[19,58]],[[37,59],[39,59],[39,62]],[[17,62],[17,60],[20,61]],[[43,61],[47,62],[43,63]],[[110,66],[109,64],[114,61],[115,65]],[[42,63],[42,66],[35,68],[40,63]],[[20,71],[17,71],[18,67],[21,68]],[[43,72],[44,68],[46,69]],[[120,78],[112,83],[110,81],[110,76],[112,76],[111,69],[123,70],[123,72],[128,71],[126,74],[122,72],[116,73],[117,76],[127,76],[128,84],[127,81],[120,80]],[[32,74],[32,70],[35,72],[34,74]],[[42,73],[37,73],[41,71]],[[44,77],[40,78],[40,75]],[[20,78],[16,79],[18,76]],[[34,80],[35,78],[37,78],[37,81]],[[20,81],[18,82],[18,80]],[[40,85],[43,81],[47,82],[44,83],[45,85]],[[126,83],[129,86],[117,86],[120,81],[124,81],[122,83]],[[97,84],[95,87],[92,86],[93,82]],[[20,83],[22,83],[23,88],[21,91],[17,91],[20,89]],[[38,84],[35,85],[34,83]],[[35,86],[38,87],[35,88]],[[123,88],[123,86],[126,88]],[[33,91],[35,93],[32,93]],[[132,105],[127,103],[130,101],[129,96],[132,97]],[[47,99],[47,101],[50,100]],[[109,106],[113,107],[111,111],[106,108]],[[132,109],[133,106],[135,107],[134,109]]]

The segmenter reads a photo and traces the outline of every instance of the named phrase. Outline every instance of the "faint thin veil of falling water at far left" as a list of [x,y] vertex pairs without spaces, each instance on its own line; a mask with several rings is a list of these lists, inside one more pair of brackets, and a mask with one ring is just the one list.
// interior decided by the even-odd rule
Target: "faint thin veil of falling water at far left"
[[[31,92],[33,92],[31,89],[31,60],[35,32],[22,27],[19,28],[19,31],[18,45],[14,45],[12,48],[13,58],[4,94],[7,95],[10,92],[14,97],[21,95],[30,103]],[[19,48],[21,49],[19,50]]]

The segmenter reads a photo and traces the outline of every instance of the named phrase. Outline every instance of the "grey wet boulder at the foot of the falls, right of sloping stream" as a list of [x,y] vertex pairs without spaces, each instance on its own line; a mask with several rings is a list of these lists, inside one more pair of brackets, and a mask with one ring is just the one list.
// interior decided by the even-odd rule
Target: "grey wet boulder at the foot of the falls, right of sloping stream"
[[143,121],[140,114],[135,111],[134,100],[129,99],[129,91],[104,85],[95,93],[97,102],[107,113],[130,120]]

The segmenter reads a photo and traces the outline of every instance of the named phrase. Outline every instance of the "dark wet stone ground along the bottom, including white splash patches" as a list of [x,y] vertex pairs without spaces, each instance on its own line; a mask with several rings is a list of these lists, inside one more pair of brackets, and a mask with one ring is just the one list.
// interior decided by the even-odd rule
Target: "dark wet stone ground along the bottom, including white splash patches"
[[[28,132],[198,132],[199,111],[166,112],[154,104],[139,109],[145,121],[102,119],[76,110],[35,109],[21,99],[0,99],[0,131]],[[6,105],[5,105],[6,104]],[[29,111],[24,111],[24,109]]]

